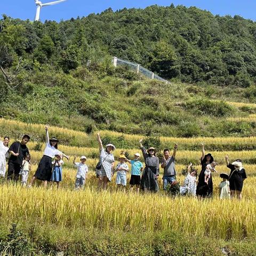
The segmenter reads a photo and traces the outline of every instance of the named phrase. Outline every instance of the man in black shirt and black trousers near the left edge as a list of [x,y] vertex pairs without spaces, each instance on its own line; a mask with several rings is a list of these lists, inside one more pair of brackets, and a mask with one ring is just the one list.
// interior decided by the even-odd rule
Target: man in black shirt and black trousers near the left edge
[[24,135],[22,137],[21,142],[15,141],[9,148],[9,153],[11,154],[9,161],[8,161],[8,173],[7,173],[7,180],[18,181],[19,180],[19,173],[21,170],[23,159],[26,155],[29,154],[29,150],[27,148],[27,143],[29,142],[30,137],[29,135]]

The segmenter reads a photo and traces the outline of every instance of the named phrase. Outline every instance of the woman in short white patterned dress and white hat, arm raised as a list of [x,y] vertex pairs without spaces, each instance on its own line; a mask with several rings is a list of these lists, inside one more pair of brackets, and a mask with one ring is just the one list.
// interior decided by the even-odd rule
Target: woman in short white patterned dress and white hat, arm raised
[[97,140],[100,150],[99,163],[96,167],[96,173],[98,176],[98,188],[106,190],[108,182],[111,181],[114,173],[115,158],[112,153],[116,147],[109,143],[105,148],[103,148],[102,141],[100,139],[100,133],[97,133]]

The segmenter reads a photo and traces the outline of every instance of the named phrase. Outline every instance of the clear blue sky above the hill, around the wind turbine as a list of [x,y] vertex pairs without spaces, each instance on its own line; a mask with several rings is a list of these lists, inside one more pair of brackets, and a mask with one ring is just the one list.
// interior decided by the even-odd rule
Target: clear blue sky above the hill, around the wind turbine
[[[41,0],[43,3],[52,2],[53,0]],[[19,5],[17,4],[19,3]],[[146,6],[158,4],[169,6],[171,3],[176,5],[196,6],[203,10],[209,10],[213,14],[220,15],[241,15],[244,18],[256,20],[256,1],[255,0],[67,0],[67,2],[44,7],[41,11],[41,20],[67,20],[83,17],[90,13],[102,12],[108,7],[114,11],[124,7],[145,8]],[[7,14],[13,18],[23,20],[33,20],[35,16],[34,0],[0,0],[0,14]]]

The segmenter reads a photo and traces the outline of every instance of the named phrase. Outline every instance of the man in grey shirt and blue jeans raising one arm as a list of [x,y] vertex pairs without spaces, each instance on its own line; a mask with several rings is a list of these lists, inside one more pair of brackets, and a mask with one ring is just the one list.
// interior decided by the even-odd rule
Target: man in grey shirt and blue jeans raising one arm
[[172,156],[170,156],[170,150],[164,149],[164,158],[161,163],[161,167],[164,169],[163,175],[163,186],[166,190],[167,185],[171,184],[176,180],[176,171],[175,171],[175,156],[177,152],[178,145],[175,144],[173,148]]

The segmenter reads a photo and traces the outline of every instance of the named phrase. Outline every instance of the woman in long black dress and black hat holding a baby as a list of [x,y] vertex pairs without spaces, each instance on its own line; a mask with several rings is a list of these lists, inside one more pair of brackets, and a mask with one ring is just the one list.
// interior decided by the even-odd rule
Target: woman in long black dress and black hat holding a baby
[[201,143],[202,145],[202,156],[201,156],[201,165],[202,165],[202,170],[199,174],[198,178],[198,183],[196,187],[196,195],[198,197],[212,197],[212,192],[213,192],[213,183],[212,183],[212,174],[210,176],[210,179],[208,181],[208,185],[206,182],[204,182],[204,172],[206,169],[207,164],[211,164],[214,159],[211,154],[205,155],[204,151],[204,144]]

